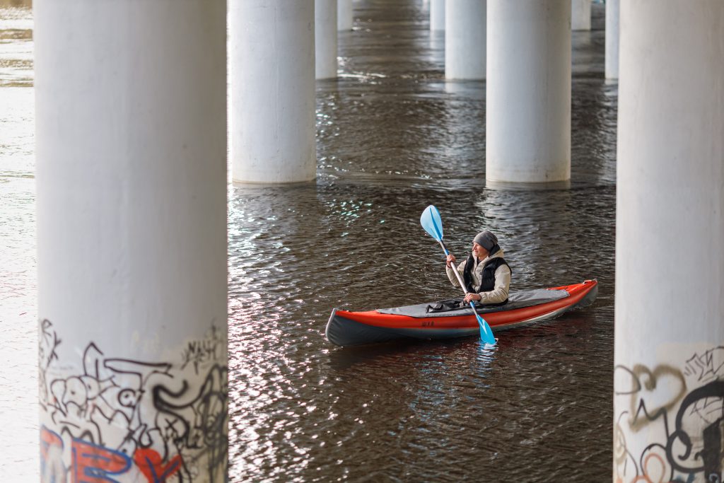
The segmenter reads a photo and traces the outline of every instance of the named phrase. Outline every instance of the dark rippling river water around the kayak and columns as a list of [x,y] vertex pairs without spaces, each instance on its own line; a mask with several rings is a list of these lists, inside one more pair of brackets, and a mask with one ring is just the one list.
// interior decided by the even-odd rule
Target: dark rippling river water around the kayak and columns
[[[316,182],[228,188],[231,481],[610,481],[617,85],[602,6],[573,33],[572,179],[557,188],[486,185],[485,83],[444,80],[426,1],[354,6],[340,78],[317,83]],[[31,29],[28,1],[0,0],[1,481],[38,474]],[[597,301],[492,350],[329,344],[333,307],[458,295],[419,224],[431,203],[459,257],[498,235],[511,290],[597,278]]]

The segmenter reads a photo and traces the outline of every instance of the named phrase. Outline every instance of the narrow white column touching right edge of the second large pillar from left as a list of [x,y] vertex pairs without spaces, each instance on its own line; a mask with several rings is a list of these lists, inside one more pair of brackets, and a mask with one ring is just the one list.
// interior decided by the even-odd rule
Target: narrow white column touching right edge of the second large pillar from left
[[314,75],[337,77],[337,0],[314,0]]

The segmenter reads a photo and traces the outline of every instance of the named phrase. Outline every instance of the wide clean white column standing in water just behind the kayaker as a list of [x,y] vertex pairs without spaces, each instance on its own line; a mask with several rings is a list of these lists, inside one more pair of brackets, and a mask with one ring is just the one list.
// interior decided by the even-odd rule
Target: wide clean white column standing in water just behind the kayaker
[[571,4],[488,0],[486,178],[571,177]]

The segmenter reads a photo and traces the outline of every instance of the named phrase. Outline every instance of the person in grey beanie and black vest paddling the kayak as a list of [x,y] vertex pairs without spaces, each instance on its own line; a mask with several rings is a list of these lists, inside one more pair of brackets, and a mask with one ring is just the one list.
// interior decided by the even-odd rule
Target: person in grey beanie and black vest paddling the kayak
[[[502,248],[497,243],[497,237],[492,232],[479,232],[473,238],[473,251],[468,259],[458,265],[458,272],[463,276],[468,294],[465,303],[470,301],[481,304],[499,304],[508,302],[508,289],[510,275],[513,273],[510,266],[502,258]],[[447,256],[447,278],[452,285],[460,287],[455,277],[453,266],[455,256]]]

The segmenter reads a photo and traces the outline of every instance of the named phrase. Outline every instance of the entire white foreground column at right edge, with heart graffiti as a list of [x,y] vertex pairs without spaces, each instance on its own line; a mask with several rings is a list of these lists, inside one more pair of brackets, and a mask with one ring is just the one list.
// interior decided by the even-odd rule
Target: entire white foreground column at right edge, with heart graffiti
[[614,479],[721,481],[724,2],[620,14]]

